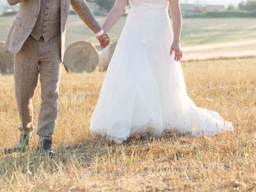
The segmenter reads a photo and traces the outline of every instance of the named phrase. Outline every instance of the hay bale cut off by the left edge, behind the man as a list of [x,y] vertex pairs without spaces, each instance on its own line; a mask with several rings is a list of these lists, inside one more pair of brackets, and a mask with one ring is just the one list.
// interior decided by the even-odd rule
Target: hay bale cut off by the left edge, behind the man
[[0,73],[13,74],[14,53],[3,47],[4,42],[0,42]]

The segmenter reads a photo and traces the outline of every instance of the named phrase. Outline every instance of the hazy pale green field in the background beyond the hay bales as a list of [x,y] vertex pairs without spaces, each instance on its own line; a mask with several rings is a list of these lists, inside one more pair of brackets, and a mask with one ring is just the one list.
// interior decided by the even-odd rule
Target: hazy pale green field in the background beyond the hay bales
[[[14,16],[0,17],[0,41],[5,40]],[[97,16],[102,24],[104,17]],[[112,41],[118,40],[126,18],[122,17],[118,24],[109,32]],[[76,15],[70,15],[67,23],[66,45],[78,39],[86,39],[99,44],[90,29]],[[199,18],[183,19],[181,44],[192,46],[198,44],[215,44],[222,42],[256,40],[255,18]]]

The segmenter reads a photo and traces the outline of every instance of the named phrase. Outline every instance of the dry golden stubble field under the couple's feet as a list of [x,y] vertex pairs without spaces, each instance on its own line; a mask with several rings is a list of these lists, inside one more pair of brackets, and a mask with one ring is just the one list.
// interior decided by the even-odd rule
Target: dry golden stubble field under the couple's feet
[[[1,191],[256,191],[256,59],[183,62],[188,95],[196,105],[233,122],[232,133],[108,144],[89,132],[104,72],[62,73],[54,133],[56,158],[7,150],[19,123],[13,76],[0,76]],[[40,86],[34,97],[34,124]]]

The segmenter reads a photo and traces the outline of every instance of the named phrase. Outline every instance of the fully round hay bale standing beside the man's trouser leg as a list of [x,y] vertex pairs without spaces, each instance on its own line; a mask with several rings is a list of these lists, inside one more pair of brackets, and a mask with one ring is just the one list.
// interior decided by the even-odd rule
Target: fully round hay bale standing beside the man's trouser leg
[[98,50],[86,40],[71,42],[65,50],[64,66],[67,71],[92,72],[98,61]]

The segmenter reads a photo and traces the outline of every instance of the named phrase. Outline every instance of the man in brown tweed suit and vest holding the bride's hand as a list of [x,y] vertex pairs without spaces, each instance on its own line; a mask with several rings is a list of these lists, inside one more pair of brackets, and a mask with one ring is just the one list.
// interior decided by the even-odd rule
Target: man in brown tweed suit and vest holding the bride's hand
[[21,123],[18,149],[29,145],[33,121],[32,98],[38,76],[42,103],[38,117],[38,150],[54,156],[52,134],[58,114],[58,89],[70,4],[80,19],[96,34],[102,48],[108,36],[96,21],[85,0],[7,0],[20,3],[4,45],[14,52],[15,96]]

